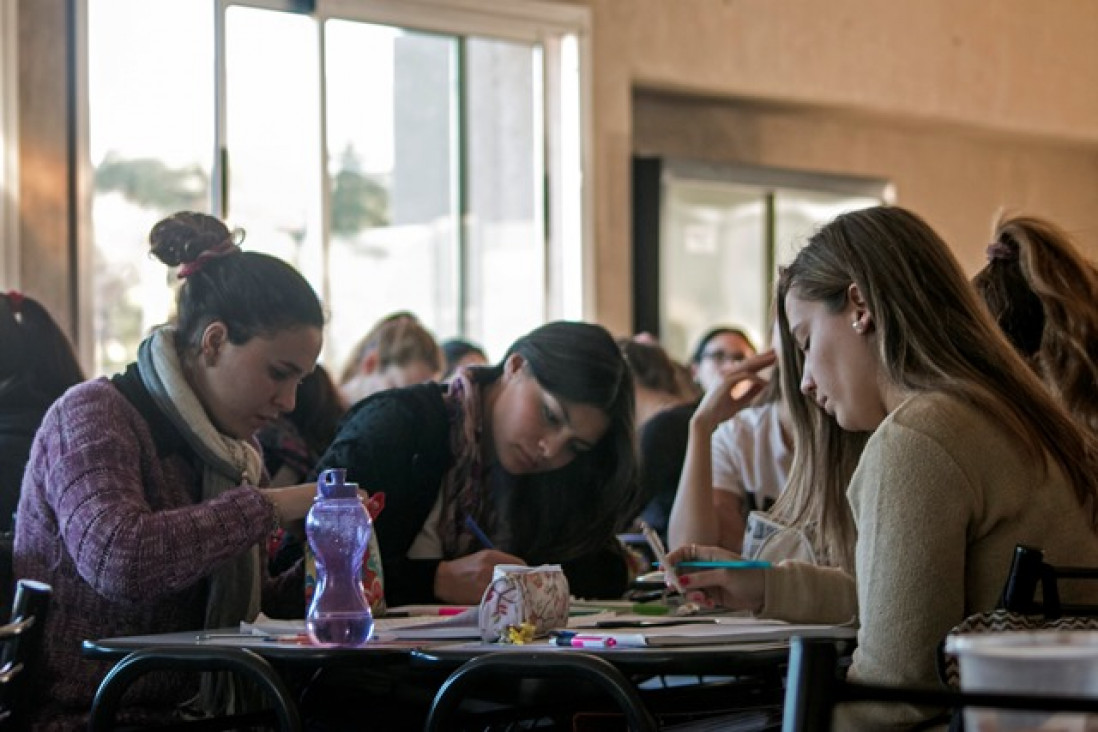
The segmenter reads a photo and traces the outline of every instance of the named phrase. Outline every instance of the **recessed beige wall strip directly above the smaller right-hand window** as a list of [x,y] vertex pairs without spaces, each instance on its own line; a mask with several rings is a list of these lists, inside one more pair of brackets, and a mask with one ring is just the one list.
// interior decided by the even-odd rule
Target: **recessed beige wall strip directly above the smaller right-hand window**
[[637,93],[638,153],[885,178],[972,273],[1000,207],[1040,212],[1098,255],[1098,146],[810,108]]

